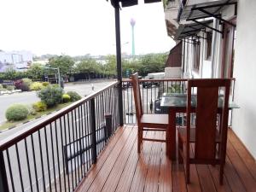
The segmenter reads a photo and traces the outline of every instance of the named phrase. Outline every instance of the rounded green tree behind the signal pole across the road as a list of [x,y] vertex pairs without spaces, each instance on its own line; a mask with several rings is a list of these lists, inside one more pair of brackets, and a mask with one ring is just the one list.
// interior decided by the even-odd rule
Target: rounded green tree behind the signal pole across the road
[[60,68],[61,75],[67,75],[73,71],[74,61],[68,55],[51,57],[47,67]]

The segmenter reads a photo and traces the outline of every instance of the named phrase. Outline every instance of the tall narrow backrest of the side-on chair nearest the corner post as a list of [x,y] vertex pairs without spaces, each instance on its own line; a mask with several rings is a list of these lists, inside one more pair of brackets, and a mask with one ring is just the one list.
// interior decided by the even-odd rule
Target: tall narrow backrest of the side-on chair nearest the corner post
[[138,123],[140,123],[140,119],[143,115],[143,104],[141,99],[140,84],[138,81],[137,73],[134,73],[131,75],[131,81],[132,81],[132,88],[133,88],[133,94],[134,94],[134,102],[136,107],[137,121]]

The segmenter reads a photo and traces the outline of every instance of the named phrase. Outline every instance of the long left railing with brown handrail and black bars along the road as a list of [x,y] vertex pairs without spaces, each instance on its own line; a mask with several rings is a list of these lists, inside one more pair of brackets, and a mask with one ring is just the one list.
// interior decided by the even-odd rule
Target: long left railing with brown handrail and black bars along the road
[[0,191],[73,191],[119,126],[117,82],[0,142]]

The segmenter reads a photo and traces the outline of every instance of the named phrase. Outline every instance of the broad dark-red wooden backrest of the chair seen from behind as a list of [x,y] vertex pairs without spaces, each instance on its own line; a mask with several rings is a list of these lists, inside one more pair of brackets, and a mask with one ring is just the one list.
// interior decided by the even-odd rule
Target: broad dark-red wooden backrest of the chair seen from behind
[[[230,79],[190,79],[187,101],[187,139],[190,137],[191,94],[196,91],[195,159],[213,160],[216,157],[218,111],[222,111],[219,129],[220,144],[225,143],[228,126]],[[221,96],[224,96],[223,98]],[[187,140],[187,141],[188,141]],[[187,146],[189,148],[189,145]]]

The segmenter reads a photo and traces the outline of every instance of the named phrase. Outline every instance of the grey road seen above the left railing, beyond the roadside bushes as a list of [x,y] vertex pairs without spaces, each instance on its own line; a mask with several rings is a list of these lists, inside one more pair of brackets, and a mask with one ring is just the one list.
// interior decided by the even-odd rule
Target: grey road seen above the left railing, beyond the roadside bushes
[[[103,87],[107,86],[112,81],[106,80],[103,82],[92,82],[92,83],[81,83],[81,84],[73,84],[68,83],[65,84],[64,90],[67,91],[76,91],[79,93],[80,96],[88,96],[91,93],[101,90]],[[94,90],[92,90],[92,85],[94,87]],[[14,103],[19,104],[25,104],[30,105],[33,102],[38,102],[40,99],[37,96],[36,91],[30,91],[30,92],[21,92],[21,93],[15,93],[12,95],[4,95],[0,96],[0,124],[3,123],[5,119],[5,111],[7,108],[9,108],[10,105]]]

